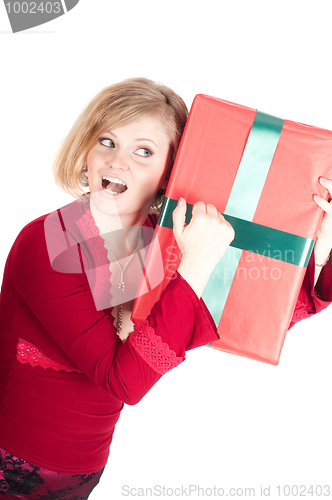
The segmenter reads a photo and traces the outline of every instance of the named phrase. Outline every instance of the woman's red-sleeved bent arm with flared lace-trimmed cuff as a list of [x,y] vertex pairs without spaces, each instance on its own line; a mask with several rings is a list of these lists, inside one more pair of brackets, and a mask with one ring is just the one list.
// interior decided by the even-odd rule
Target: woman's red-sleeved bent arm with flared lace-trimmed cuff
[[[218,337],[203,301],[178,276],[171,280],[146,324],[122,343],[107,314],[96,310],[86,274],[78,267],[76,257],[77,252],[67,253],[66,272],[54,270],[43,223],[31,224],[10,253],[10,285],[38,319],[50,342],[121,401],[138,402],[167,371],[165,366],[161,369],[152,365],[146,355],[156,338],[158,345],[166,344],[160,354],[172,361],[167,367],[170,369],[183,361],[187,349]],[[138,346],[142,337],[144,348]]]

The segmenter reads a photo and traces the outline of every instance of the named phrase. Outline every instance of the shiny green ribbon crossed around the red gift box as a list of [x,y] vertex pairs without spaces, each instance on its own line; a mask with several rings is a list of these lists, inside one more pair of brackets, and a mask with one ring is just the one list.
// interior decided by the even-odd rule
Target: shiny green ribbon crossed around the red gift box
[[[243,250],[307,267],[314,240],[252,222],[263,191],[284,120],[256,112],[237,175],[223,214],[233,226],[235,238],[218,262],[204,289],[203,299],[219,324]],[[159,226],[173,228],[172,212],[177,200],[166,198]],[[193,205],[187,204],[189,224]],[[291,249],[291,250],[290,250]],[[227,270],[227,272],[226,272]],[[223,276],[223,286],[218,279]]]

